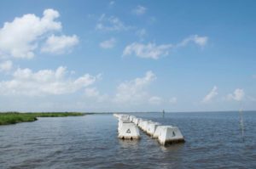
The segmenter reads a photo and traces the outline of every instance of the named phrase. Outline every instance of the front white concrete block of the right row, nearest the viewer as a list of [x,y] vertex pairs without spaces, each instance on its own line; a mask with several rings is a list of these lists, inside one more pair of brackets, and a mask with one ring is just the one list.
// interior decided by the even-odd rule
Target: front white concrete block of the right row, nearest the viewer
[[184,142],[184,138],[178,127],[162,127],[160,130],[160,135],[158,137],[160,144],[172,144]]

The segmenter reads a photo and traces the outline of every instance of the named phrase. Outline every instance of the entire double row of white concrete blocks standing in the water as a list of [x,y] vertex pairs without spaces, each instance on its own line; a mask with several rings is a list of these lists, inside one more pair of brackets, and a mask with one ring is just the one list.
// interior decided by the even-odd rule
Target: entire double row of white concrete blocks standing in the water
[[158,122],[143,120],[134,115],[113,114],[118,121],[118,138],[138,139],[140,133],[138,127],[151,138],[157,138],[162,145],[184,143],[183,134],[178,127],[162,126]]

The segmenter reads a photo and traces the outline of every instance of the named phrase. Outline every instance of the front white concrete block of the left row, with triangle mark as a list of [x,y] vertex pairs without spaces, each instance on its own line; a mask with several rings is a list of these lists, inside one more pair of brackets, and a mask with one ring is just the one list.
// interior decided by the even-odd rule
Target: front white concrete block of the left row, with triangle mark
[[140,132],[134,123],[122,121],[119,127],[119,138],[138,139],[140,138]]

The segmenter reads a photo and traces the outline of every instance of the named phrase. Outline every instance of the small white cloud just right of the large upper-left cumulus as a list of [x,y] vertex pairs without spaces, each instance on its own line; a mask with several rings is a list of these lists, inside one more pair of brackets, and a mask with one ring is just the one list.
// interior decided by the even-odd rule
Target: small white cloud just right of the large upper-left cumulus
[[60,37],[51,35],[47,38],[44,46],[41,48],[41,51],[50,54],[63,54],[69,52],[73,48],[73,46],[78,43],[79,38],[76,35],[70,37],[65,35],[62,35]]

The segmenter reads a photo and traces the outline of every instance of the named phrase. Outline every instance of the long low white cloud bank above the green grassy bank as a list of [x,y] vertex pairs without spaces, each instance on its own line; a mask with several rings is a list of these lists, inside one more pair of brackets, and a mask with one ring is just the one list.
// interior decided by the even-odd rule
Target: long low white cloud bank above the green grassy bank
[[79,89],[92,85],[97,76],[85,74],[73,79],[66,67],[60,66],[56,70],[38,70],[33,72],[30,69],[15,70],[9,81],[0,82],[0,94],[3,95],[58,95],[75,93]]

